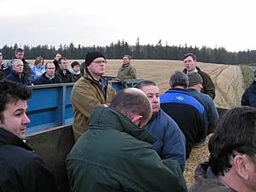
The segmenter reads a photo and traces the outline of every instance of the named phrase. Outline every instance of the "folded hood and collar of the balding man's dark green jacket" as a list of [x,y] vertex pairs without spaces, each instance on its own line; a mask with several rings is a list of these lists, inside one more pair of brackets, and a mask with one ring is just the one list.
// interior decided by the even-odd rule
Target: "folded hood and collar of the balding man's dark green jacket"
[[89,129],[113,129],[125,132],[143,142],[151,144],[155,142],[148,131],[139,128],[124,114],[111,108],[96,107],[90,116]]

